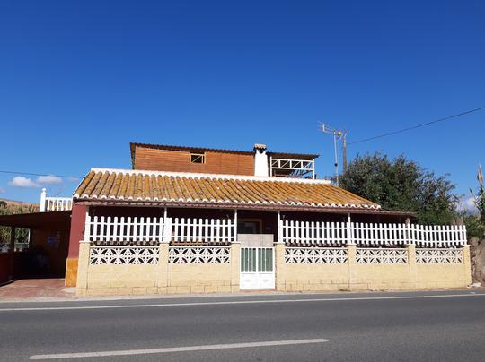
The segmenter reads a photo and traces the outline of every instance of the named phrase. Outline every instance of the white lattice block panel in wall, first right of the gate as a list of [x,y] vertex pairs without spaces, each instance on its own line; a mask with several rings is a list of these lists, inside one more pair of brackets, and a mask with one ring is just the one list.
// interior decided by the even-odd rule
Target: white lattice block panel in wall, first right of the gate
[[347,263],[347,249],[330,247],[287,247],[285,249],[285,263],[313,264],[313,263]]

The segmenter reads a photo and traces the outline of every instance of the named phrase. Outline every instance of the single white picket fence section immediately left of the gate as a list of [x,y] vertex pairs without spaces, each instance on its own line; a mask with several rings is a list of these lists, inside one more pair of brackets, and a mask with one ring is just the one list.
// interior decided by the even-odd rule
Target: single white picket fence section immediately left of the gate
[[172,220],[172,241],[175,243],[228,244],[235,238],[234,219]]

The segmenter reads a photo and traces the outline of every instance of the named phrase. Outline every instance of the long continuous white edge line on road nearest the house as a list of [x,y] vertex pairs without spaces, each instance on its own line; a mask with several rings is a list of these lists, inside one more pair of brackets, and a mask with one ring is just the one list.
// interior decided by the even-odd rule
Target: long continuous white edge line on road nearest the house
[[0,308],[0,312],[24,312],[45,310],[82,310],[82,309],[118,309],[118,308],[154,308],[163,306],[221,306],[242,304],[267,304],[267,303],[311,303],[311,302],[343,302],[355,300],[393,300],[393,299],[429,299],[438,297],[485,297],[485,294],[437,294],[427,296],[392,296],[392,297],[322,297],[304,299],[260,299],[260,300],[233,300],[224,302],[189,302],[189,303],[160,303],[160,304],[136,304],[136,305],[110,305],[110,306],[33,306],[25,308]]

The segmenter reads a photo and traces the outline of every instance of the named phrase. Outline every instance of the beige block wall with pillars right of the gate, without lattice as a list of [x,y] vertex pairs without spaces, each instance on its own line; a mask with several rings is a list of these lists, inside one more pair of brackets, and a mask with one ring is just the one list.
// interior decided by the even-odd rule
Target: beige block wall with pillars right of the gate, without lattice
[[356,246],[348,246],[348,263],[285,263],[285,246],[276,246],[277,290],[405,290],[463,288],[471,283],[469,246],[463,263],[417,264],[408,246],[408,263],[357,264]]

